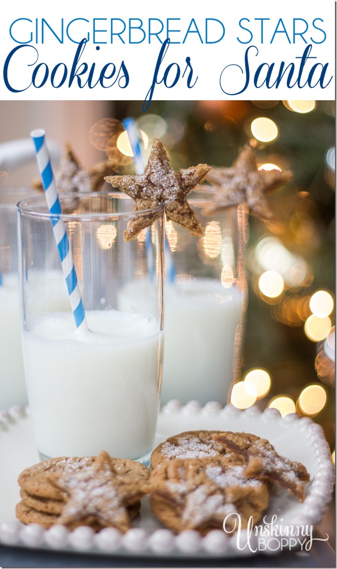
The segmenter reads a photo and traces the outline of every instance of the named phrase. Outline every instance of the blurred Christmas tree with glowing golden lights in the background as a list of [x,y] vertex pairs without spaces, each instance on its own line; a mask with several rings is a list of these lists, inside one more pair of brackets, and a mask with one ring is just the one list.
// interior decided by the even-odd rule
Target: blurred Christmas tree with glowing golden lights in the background
[[[270,195],[276,222],[249,218],[243,378],[267,372],[254,372],[258,404],[312,417],[334,451],[335,103],[153,101],[143,113],[141,101],[118,101],[113,116],[161,139],[175,170],[229,167],[249,142],[258,167],[293,171]],[[132,172],[115,141],[109,157],[118,156],[116,170]]]

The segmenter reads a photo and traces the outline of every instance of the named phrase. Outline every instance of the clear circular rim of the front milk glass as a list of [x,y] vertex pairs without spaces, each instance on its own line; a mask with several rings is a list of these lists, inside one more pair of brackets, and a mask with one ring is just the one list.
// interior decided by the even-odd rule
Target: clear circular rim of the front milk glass
[[[61,193],[59,193],[59,199],[60,199],[61,203],[62,203],[62,200],[65,198],[68,198],[68,199],[81,198],[82,200],[84,200],[84,199],[88,199],[89,197],[101,197],[101,198],[105,197],[106,199],[110,198],[110,199],[114,199],[114,200],[130,200],[133,207],[135,205],[134,200],[130,196],[128,196],[122,192],[76,192],[76,193],[61,192]],[[57,217],[57,218],[61,218],[63,221],[88,221],[88,220],[95,220],[95,219],[102,220],[102,219],[107,219],[107,218],[109,218],[111,220],[112,217],[114,218],[114,220],[117,220],[119,218],[130,218],[130,217],[137,216],[137,215],[148,216],[149,213],[157,213],[157,217],[158,217],[161,215],[162,212],[164,212],[163,202],[160,202],[154,208],[137,209],[137,211],[135,211],[134,209],[130,209],[126,212],[80,212],[80,213],[56,214],[56,213],[50,213],[49,211],[46,211],[46,212],[34,211],[34,208],[33,208],[34,204],[36,205],[37,203],[40,202],[40,200],[44,200],[43,205],[45,205],[46,209],[48,209],[46,196],[44,196],[44,193],[41,193],[41,195],[39,195],[39,196],[28,197],[27,199],[19,201],[16,205],[17,212],[24,217],[38,218],[39,220],[51,220],[52,218]]]

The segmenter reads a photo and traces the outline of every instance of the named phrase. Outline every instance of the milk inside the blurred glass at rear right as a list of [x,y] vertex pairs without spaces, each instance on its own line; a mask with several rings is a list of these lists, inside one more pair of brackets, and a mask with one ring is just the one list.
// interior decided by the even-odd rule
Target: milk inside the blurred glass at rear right
[[[129,283],[122,291],[120,307],[124,310],[135,288],[135,283]],[[238,288],[225,288],[215,279],[166,284],[163,403],[169,399],[227,402],[241,302]]]

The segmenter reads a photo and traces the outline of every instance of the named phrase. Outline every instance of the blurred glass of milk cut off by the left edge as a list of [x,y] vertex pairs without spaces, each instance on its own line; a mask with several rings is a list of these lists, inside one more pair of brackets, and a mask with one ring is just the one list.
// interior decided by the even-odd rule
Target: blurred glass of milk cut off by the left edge
[[15,204],[32,193],[29,187],[0,188],[0,410],[27,405],[20,335]]

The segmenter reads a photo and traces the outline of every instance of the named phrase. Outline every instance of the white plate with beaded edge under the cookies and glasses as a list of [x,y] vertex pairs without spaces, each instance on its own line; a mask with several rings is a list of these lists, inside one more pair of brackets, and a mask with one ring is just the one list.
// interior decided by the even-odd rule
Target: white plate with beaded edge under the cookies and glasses
[[[305,501],[300,503],[289,492],[278,488],[270,498],[266,521],[268,523],[276,515],[278,523],[282,521],[282,528],[310,527],[320,522],[330,501],[334,467],[323,430],[313,420],[300,419],[295,414],[282,419],[275,409],[261,413],[256,407],[239,411],[230,405],[221,407],[217,402],[209,402],[202,407],[196,401],[185,406],[171,401],[159,414],[155,445],[168,436],[199,429],[251,432],[268,438],[280,455],[304,464],[311,478]],[[97,555],[191,557],[253,554],[251,544],[243,547],[237,535],[229,536],[223,530],[213,530],[203,538],[192,530],[175,535],[154,518],[146,498],[142,501],[141,516],[133,521],[132,529],[124,535],[113,528],[96,534],[90,527],[78,527],[69,532],[64,526],[54,526],[49,530],[44,530],[37,523],[25,526],[15,519],[15,504],[20,500],[17,478],[24,468],[39,461],[28,410],[11,407],[6,413],[0,413],[0,456],[0,542],[5,545]],[[277,550],[275,539],[269,551],[268,547],[264,549],[265,552]]]

